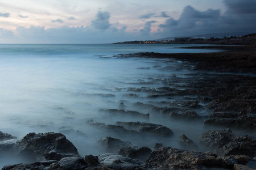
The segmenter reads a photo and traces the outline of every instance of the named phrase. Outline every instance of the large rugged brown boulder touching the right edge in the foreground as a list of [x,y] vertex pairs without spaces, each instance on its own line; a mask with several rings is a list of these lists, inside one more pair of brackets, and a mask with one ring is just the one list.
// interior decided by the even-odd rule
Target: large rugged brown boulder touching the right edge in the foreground
[[234,135],[230,129],[209,130],[200,135],[199,141],[219,155],[256,156],[256,139]]

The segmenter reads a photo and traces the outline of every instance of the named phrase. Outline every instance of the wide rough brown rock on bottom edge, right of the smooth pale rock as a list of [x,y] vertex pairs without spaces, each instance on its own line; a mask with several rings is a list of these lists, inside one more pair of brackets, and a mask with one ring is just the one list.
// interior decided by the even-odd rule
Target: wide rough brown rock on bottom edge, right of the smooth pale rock
[[146,166],[164,169],[233,168],[234,164],[238,164],[235,156],[220,158],[211,152],[202,153],[167,147],[152,151],[146,160]]

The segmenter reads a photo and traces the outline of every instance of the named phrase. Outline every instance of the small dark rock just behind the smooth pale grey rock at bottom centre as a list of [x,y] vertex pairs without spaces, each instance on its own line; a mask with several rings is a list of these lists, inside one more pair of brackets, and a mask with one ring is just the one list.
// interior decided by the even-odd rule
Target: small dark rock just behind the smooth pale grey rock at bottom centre
[[146,160],[151,153],[148,147],[120,147],[118,154],[132,159]]

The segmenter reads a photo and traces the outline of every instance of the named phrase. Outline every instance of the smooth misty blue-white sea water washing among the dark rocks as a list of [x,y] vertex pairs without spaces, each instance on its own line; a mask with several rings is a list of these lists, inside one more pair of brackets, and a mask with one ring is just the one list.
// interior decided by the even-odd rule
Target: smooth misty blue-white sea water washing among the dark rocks
[[[164,79],[187,78],[197,74],[191,69],[193,66],[188,69],[184,66],[187,63],[172,59],[113,57],[115,54],[137,52],[214,51],[176,49],[181,46],[195,45],[1,44],[0,131],[18,139],[30,132],[60,132],[77,147],[81,156],[103,154],[104,148],[96,141],[108,136],[151,149],[155,143],[181,148],[181,134],[196,142],[201,133],[209,130],[201,121],[174,120],[168,115],[154,113],[145,118],[99,112],[100,109],[119,109],[119,104],[123,102],[126,110],[148,113],[146,109],[133,107],[133,104],[183,100],[184,96],[175,96],[174,99],[148,98],[146,92],[130,92],[129,89],[164,87]],[[199,109],[196,112],[206,115],[210,111]],[[152,122],[167,126],[175,135],[163,138],[111,133],[88,125],[88,120],[112,125],[117,121]],[[0,167],[14,163],[21,162],[12,156],[1,155]]]

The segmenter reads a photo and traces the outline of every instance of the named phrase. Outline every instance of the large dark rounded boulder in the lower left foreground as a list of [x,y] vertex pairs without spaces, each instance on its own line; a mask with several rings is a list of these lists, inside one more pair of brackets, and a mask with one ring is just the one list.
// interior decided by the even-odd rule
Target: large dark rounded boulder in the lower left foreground
[[77,148],[61,133],[29,133],[17,142],[16,147],[21,155],[29,155],[36,161],[80,156]]

